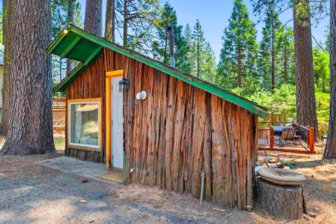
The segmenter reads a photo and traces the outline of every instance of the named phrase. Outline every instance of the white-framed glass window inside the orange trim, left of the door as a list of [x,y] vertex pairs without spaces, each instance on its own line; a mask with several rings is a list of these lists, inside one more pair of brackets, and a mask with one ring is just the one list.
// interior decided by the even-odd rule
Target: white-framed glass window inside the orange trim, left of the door
[[71,102],[69,112],[69,144],[99,148],[99,102]]

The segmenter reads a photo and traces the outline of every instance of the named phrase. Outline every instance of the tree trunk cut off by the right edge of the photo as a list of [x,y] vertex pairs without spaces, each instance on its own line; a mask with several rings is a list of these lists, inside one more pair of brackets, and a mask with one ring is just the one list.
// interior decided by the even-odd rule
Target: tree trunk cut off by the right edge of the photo
[[323,159],[336,159],[336,0],[330,0],[330,115]]

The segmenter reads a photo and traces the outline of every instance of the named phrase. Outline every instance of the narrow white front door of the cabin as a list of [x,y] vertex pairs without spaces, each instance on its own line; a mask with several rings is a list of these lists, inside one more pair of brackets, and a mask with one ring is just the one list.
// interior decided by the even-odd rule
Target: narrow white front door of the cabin
[[123,168],[123,92],[119,92],[119,80],[122,77],[111,78],[111,131],[112,131],[112,161],[113,167]]

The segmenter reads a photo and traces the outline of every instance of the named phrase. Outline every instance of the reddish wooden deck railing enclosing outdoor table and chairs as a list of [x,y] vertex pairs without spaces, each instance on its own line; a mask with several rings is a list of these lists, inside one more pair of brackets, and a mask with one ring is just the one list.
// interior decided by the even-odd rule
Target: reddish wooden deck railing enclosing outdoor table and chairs
[[[283,129],[274,130],[276,126],[283,126]],[[304,127],[294,122],[262,122],[258,123],[258,127],[260,149],[315,153],[313,127]]]

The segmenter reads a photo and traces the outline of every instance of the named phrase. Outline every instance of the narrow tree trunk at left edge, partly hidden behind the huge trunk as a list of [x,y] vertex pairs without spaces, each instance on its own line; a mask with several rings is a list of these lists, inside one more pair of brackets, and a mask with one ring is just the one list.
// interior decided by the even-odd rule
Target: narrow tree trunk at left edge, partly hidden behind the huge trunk
[[8,118],[10,109],[10,15],[12,1],[3,0],[3,83],[2,83],[2,111],[1,111],[1,131],[2,136],[6,136],[8,130]]

